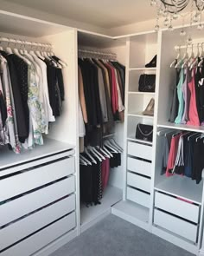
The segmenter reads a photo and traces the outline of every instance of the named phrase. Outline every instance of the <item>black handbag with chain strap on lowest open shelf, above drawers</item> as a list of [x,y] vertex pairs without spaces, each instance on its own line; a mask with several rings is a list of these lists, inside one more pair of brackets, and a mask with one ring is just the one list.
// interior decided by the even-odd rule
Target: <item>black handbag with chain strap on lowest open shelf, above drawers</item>
[[153,138],[153,126],[138,123],[136,128],[136,139],[142,141],[152,141]]

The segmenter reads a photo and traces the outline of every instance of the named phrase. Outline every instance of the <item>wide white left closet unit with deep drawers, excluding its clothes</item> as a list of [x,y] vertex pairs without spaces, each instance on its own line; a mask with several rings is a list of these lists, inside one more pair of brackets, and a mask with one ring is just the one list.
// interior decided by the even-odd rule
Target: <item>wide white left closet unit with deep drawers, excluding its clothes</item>
[[[77,235],[79,223],[76,31],[0,11],[0,36],[51,43],[63,69],[65,102],[44,145],[15,154],[0,148],[0,254],[48,255]],[[2,46],[6,46],[3,45]],[[10,43],[12,48],[12,43]]]

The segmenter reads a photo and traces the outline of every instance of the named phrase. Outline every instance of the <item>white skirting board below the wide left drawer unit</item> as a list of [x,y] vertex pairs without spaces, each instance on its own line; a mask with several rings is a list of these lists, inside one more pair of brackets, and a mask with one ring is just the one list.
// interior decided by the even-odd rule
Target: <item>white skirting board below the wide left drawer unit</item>
[[51,253],[54,253],[56,250],[60,249],[62,246],[65,246],[68,242],[73,240],[77,236],[77,230],[74,229],[69,233],[64,234],[59,239],[54,240],[51,244],[44,247],[38,253],[33,254],[33,256],[48,256]]

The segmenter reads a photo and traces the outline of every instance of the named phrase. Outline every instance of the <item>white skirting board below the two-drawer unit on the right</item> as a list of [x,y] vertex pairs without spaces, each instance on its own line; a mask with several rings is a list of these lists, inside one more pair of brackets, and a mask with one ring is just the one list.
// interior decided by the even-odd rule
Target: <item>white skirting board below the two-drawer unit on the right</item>
[[159,227],[152,226],[152,233],[162,238],[163,240],[167,240],[169,243],[172,243],[175,246],[181,247],[182,249],[188,251],[189,253],[198,255],[198,246],[194,246],[193,244],[190,244],[187,241],[182,240],[175,235],[165,232]]

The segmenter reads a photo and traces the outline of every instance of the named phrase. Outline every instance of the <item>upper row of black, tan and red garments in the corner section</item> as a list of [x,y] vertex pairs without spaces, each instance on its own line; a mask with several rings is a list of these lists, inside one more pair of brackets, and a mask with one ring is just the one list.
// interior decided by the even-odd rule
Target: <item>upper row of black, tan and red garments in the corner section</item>
[[101,145],[115,121],[124,121],[124,66],[79,58],[80,106],[86,125],[85,145]]

